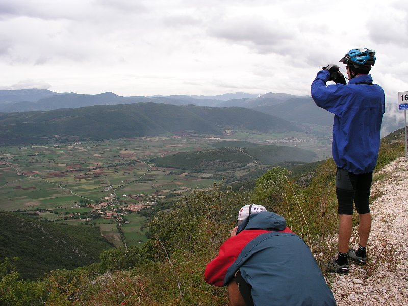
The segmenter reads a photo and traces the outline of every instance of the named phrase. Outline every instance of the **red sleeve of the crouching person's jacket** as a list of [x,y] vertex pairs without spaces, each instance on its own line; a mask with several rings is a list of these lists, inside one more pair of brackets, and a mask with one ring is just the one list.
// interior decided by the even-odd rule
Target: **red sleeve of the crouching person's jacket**
[[235,262],[245,245],[258,235],[267,232],[270,231],[244,230],[227,239],[221,245],[218,256],[207,265],[204,271],[206,282],[219,287],[227,285],[229,280],[225,279],[226,271]]

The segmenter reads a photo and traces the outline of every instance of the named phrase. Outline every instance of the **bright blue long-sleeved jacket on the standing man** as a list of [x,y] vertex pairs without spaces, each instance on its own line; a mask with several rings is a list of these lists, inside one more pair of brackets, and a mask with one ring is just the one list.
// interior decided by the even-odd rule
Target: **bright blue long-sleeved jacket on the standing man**
[[311,90],[316,105],[335,115],[333,159],[339,168],[354,174],[370,173],[378,158],[384,90],[372,84],[371,75],[359,75],[348,85],[326,86],[330,73],[317,73]]

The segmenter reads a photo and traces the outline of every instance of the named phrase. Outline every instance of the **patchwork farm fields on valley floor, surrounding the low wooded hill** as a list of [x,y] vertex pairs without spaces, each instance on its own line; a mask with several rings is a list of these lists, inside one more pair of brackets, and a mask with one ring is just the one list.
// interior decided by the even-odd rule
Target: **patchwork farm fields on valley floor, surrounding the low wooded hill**
[[[234,138],[233,138],[234,137]],[[224,137],[140,137],[125,140],[0,147],[0,210],[27,211],[36,218],[72,225],[99,226],[116,246],[122,244],[117,230],[119,219],[92,216],[92,203],[107,203],[105,209],[125,205],[151,205],[175,200],[195,188],[208,188],[222,179],[235,180],[267,165],[248,165],[233,171],[186,172],[156,167],[152,158],[176,152],[211,149],[220,140],[245,140],[259,144],[297,146],[328,152],[326,137],[310,135],[253,135],[237,133]],[[147,204],[148,203],[148,204]],[[154,205],[154,204],[153,204]],[[145,217],[123,215],[126,243],[147,240]],[[91,221],[85,221],[92,218]]]

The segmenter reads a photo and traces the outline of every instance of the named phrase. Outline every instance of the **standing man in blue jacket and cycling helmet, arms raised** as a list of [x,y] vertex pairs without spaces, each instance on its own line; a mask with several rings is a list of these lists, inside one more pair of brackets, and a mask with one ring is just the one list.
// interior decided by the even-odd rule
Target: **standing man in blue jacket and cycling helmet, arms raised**
[[[348,84],[339,67],[330,64],[317,73],[311,90],[316,105],[335,115],[331,149],[337,165],[339,253],[337,259],[328,264],[328,271],[347,274],[348,257],[363,265],[367,260],[371,228],[369,196],[380,146],[385,96],[369,74],[375,63],[374,50],[352,49],[340,62],[346,65]],[[326,86],[331,80],[336,84]],[[360,219],[360,245],[356,250],[349,249],[353,202]]]

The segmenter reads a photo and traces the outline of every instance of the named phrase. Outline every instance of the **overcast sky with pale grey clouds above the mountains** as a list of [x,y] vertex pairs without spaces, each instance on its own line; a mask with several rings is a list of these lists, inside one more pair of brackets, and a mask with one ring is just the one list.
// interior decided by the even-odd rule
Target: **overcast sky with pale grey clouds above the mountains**
[[406,0],[0,0],[0,89],[310,95],[321,67],[367,47],[397,101],[407,12]]

